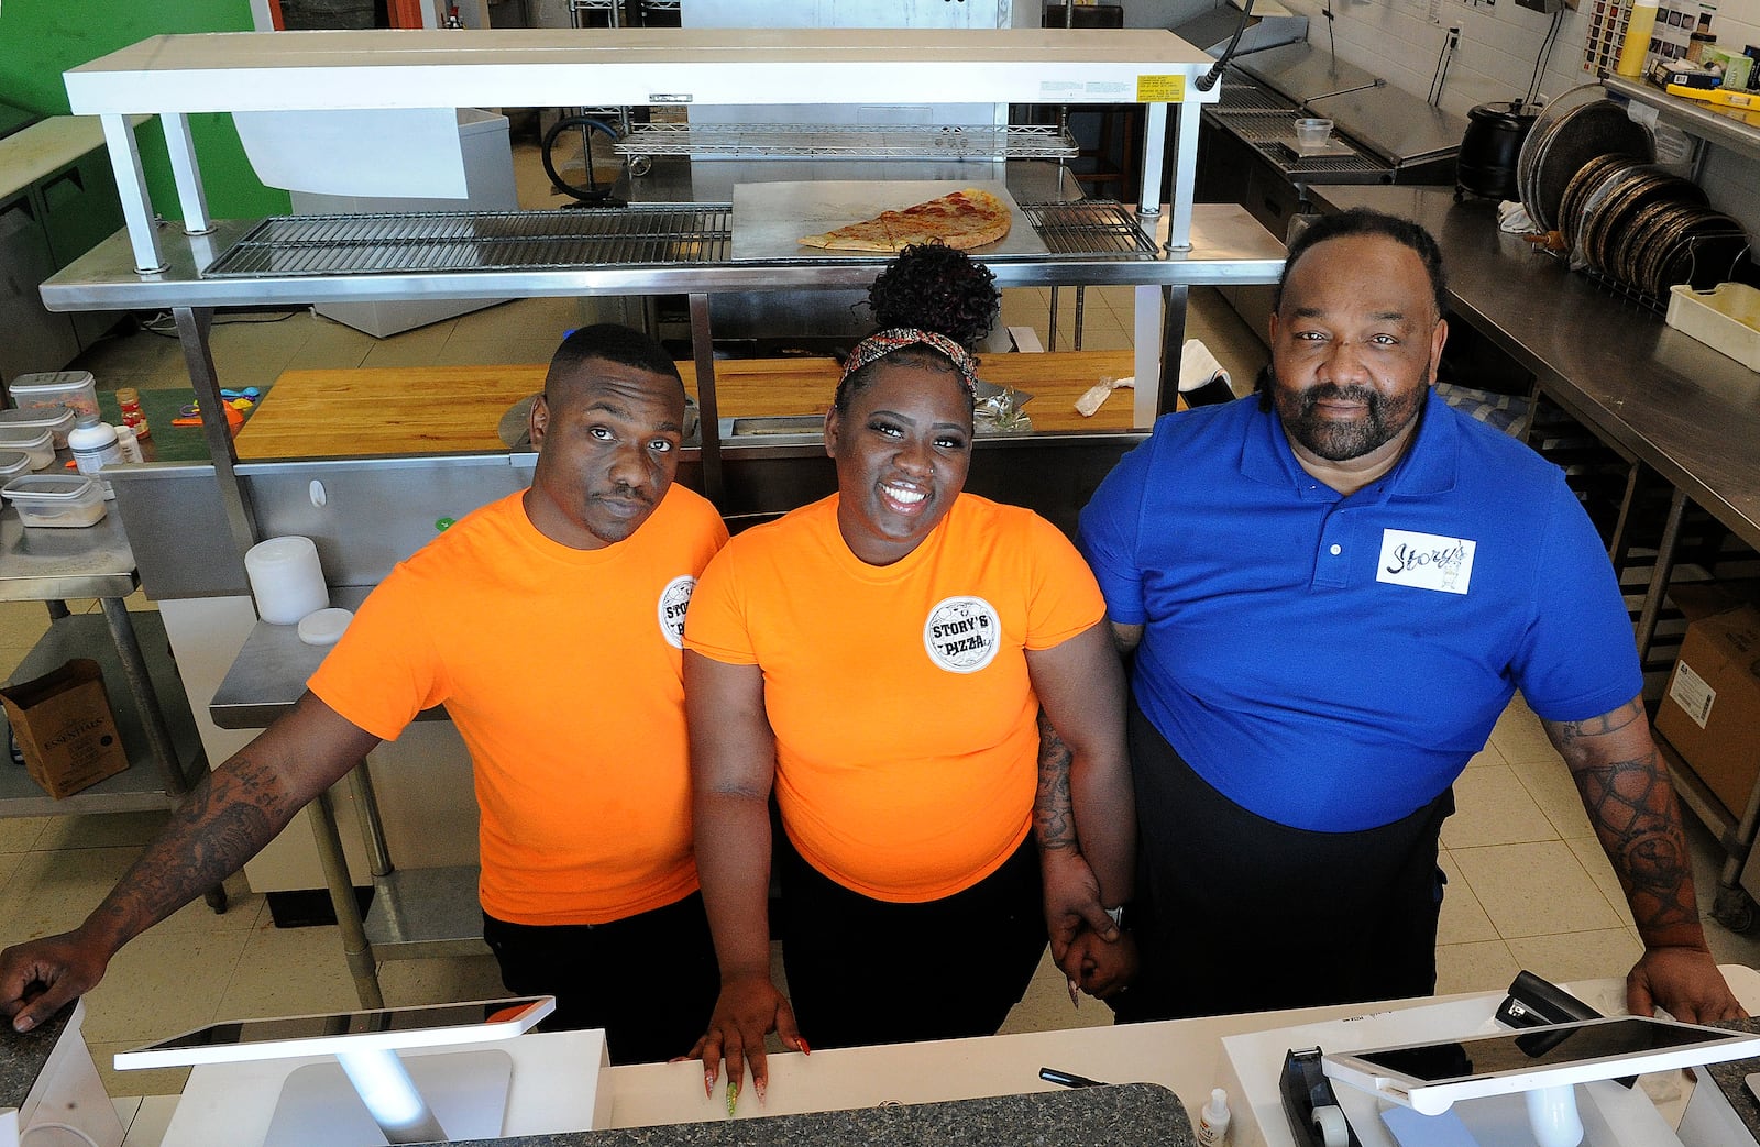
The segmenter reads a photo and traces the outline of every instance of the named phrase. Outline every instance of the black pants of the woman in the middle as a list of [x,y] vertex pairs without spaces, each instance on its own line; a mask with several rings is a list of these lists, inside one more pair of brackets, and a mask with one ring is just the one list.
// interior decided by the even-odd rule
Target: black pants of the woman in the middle
[[781,834],[776,862],[788,997],[815,1048],[994,1034],[1045,952],[1031,837],[977,885],[922,904],[850,892]]

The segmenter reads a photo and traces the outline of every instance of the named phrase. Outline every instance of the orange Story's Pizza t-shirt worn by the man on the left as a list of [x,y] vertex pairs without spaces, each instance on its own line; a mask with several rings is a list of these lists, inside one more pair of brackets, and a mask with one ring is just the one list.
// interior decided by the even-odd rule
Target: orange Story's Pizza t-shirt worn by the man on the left
[[445,705],[473,763],[489,915],[662,908],[697,890],[681,635],[725,542],[681,486],[595,551],[546,538],[510,494],[398,565],[308,688],[382,739]]

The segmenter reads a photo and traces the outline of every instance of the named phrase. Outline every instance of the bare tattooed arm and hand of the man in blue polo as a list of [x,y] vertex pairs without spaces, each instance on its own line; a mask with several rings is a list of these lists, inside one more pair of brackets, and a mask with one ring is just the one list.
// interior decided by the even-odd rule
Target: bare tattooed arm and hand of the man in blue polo
[[1644,957],[1626,976],[1626,1005],[1637,1015],[1661,1006],[1686,1022],[1744,1015],[1705,948],[1681,811],[1644,700],[1633,697],[1586,721],[1544,725],[1570,765],[1644,938]]

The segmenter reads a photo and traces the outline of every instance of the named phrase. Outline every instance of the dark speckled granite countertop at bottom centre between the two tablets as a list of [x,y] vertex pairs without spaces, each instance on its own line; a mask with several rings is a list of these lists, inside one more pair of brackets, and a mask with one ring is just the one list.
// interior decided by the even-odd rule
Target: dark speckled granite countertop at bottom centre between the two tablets
[[[473,1140],[479,1147],[1195,1147],[1179,1098],[1158,1084],[1038,1091],[848,1112],[621,1131]],[[468,1147],[468,1145],[459,1145]]]

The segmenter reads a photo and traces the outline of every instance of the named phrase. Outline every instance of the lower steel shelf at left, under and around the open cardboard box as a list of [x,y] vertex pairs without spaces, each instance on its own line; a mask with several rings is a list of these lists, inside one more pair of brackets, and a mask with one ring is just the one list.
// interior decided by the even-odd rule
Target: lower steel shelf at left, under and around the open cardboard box
[[[195,718],[183,693],[183,679],[171,660],[171,642],[165,623],[157,612],[130,614],[141,640],[153,691],[165,714],[165,727],[180,762],[187,762],[185,779],[195,783],[208,769],[202,755]],[[49,797],[25,769],[0,762],[0,816],[62,816],[69,813],[134,813],[141,809],[167,809],[178,797],[165,790],[165,778],[148,751],[146,725],[141,707],[128,691],[121,656],[100,614],[74,614],[60,617],[37,642],[12,674],[12,681],[30,681],[62,667],[70,658],[92,658],[104,670],[104,691],[116,714],[116,730],[128,749],[128,769],[106,778],[92,788],[60,800]]]

